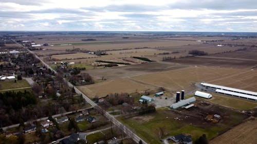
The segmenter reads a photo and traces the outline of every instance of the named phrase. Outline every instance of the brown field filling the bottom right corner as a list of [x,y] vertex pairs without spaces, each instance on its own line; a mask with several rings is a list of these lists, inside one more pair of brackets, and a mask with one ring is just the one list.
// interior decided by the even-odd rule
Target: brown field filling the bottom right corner
[[248,120],[210,141],[210,144],[255,144],[257,141],[257,119]]

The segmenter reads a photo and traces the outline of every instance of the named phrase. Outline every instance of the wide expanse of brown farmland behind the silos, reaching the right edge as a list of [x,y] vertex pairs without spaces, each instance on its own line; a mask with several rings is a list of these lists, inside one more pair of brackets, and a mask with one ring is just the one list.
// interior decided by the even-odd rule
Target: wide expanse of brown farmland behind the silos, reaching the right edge
[[[147,65],[151,66],[151,63]],[[168,71],[162,70],[160,72],[161,68],[156,69],[157,71],[154,71],[154,69],[151,71],[151,69],[143,70],[143,67],[138,67],[139,71],[137,72],[137,68],[132,66],[125,66],[122,69],[119,68],[119,70],[117,68],[89,70],[87,72],[94,78],[99,79],[103,76],[107,78],[107,81],[95,85],[81,86],[80,88],[86,87],[90,91],[96,92],[97,95],[104,96],[112,92],[136,92],[136,90],[141,91],[159,87],[166,88],[170,92],[182,89],[190,92],[195,89],[195,83],[203,81],[250,91],[256,91],[257,87],[257,84],[254,83],[254,78],[247,79],[247,76],[242,77],[242,75],[248,75],[249,77],[257,76],[257,73],[254,71],[215,67],[182,68],[173,66],[169,68],[174,70],[168,69]],[[228,81],[233,82],[229,84]],[[247,83],[251,84],[246,85]]]

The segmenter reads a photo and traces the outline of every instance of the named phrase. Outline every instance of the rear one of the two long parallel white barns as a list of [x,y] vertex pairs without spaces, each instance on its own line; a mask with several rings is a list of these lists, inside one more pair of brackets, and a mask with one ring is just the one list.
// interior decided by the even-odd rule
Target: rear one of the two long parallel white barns
[[207,83],[201,83],[201,85],[206,86],[206,87],[220,89],[220,90],[230,91],[230,92],[236,92],[236,93],[241,93],[241,94],[246,94],[246,95],[257,96],[257,92],[252,92],[252,91],[234,89],[234,88],[230,88],[230,87],[223,87],[223,86],[212,85],[212,84],[207,84]]

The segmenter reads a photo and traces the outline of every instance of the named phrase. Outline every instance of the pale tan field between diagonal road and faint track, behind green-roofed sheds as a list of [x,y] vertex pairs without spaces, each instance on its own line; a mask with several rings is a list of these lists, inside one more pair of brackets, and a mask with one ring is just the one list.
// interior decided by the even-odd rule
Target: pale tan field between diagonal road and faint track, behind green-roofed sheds
[[[89,90],[84,89],[83,87],[87,87]],[[140,92],[148,90],[150,89],[150,87],[146,87],[142,84],[136,83],[135,81],[132,81],[128,78],[117,78],[113,80],[107,80],[98,84],[80,86],[78,87],[78,89],[93,98],[95,95],[103,97],[109,93],[132,93],[136,91]]]

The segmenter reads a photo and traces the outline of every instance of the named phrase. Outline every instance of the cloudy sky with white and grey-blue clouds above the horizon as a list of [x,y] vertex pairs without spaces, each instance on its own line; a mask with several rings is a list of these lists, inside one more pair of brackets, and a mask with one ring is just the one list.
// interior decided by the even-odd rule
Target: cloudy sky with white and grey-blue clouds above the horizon
[[257,32],[257,1],[0,0],[0,30]]

